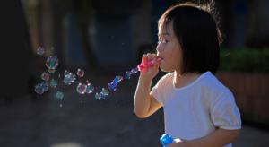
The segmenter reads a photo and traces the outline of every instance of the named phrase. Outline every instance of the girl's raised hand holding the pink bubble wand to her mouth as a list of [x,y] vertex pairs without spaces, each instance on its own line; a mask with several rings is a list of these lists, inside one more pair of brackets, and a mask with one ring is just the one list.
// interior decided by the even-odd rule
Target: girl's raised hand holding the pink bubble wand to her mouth
[[[142,64],[152,60],[157,61],[157,59],[158,57],[154,53],[148,53],[147,55],[144,54],[142,57]],[[140,77],[152,80],[153,77],[159,72],[159,65],[160,61],[157,61],[157,63],[154,65],[144,68],[140,73]]]

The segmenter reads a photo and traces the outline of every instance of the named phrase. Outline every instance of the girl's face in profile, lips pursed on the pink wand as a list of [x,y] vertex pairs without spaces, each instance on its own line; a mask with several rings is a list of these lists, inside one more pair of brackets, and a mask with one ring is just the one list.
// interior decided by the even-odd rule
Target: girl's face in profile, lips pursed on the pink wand
[[182,64],[182,49],[173,30],[173,22],[166,27],[161,23],[159,28],[157,56],[162,58],[160,68],[163,72],[180,72]]

